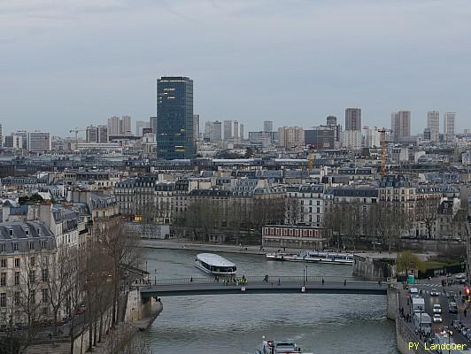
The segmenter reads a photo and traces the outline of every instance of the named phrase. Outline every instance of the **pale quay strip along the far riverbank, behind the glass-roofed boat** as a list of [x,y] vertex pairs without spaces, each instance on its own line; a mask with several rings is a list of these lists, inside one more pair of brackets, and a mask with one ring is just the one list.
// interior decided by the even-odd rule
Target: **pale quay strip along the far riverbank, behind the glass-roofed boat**
[[[264,247],[260,248],[258,245],[234,245],[234,244],[220,244],[220,243],[202,243],[192,242],[187,239],[176,240],[160,240],[143,238],[140,241],[140,247],[147,249],[164,249],[164,250],[197,250],[203,252],[226,252],[226,253],[241,253],[263,255],[266,253],[276,252],[280,248]],[[299,249],[285,248],[283,251],[297,253]],[[349,251],[349,253],[352,253]],[[357,253],[357,252],[355,252]],[[362,252],[363,253],[363,252]]]

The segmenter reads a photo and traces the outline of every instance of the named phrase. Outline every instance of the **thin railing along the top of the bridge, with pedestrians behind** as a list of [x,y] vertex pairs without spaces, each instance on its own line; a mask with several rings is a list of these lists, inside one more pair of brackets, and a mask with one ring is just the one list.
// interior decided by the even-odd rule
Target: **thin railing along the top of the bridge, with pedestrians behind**
[[[234,283],[233,280],[242,280],[242,276],[235,276],[232,278],[227,278],[227,277],[220,277],[219,282],[223,283],[225,281],[228,281],[229,283]],[[309,276],[297,276],[297,275],[268,275],[268,279],[266,280],[266,276],[264,275],[259,275],[259,276],[245,276],[245,281],[247,283],[253,283],[253,282],[264,282],[267,281],[269,283],[271,282],[322,282],[326,285],[328,283],[344,283],[344,281],[347,281],[347,283],[351,282],[361,282],[361,283],[366,283],[366,282],[371,282],[371,283],[377,283],[377,281],[363,281],[359,278],[355,277],[343,277],[343,276],[317,276],[317,275],[309,275]],[[218,282],[215,277],[189,277],[189,278],[174,278],[174,279],[150,279],[149,282],[152,285],[162,285],[162,284],[190,284],[190,283],[197,283],[197,284],[207,284],[207,283],[214,283]]]

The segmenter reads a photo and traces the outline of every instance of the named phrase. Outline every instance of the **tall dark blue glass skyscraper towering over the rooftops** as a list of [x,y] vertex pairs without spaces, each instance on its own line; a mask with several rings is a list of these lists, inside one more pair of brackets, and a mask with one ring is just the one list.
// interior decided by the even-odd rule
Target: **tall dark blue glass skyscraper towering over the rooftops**
[[157,157],[196,158],[193,81],[182,76],[157,80]]

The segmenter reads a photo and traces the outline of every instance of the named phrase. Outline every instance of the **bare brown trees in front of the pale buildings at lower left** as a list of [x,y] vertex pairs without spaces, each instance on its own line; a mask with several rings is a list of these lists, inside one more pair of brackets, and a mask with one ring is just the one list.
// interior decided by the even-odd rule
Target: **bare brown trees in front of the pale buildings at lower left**
[[83,237],[80,246],[58,245],[55,252],[31,251],[22,258],[19,277],[8,288],[7,308],[0,314],[7,327],[0,353],[23,353],[50,331],[61,335],[64,321],[73,353],[73,342],[80,336],[83,341],[86,331],[91,348],[102,341],[105,328],[123,319],[120,300],[126,269],[139,266],[138,236],[117,218],[98,222],[92,235]]

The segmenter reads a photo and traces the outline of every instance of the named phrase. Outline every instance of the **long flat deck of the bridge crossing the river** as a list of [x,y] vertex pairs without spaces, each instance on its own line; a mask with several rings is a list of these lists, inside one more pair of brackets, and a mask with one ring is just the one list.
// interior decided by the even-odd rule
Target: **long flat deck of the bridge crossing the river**
[[372,281],[248,281],[236,285],[223,282],[182,282],[158,283],[141,287],[141,296],[194,296],[194,295],[225,295],[225,294],[271,294],[271,293],[302,293],[308,294],[365,294],[386,295],[386,283]]

